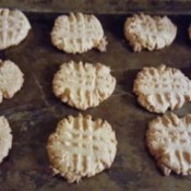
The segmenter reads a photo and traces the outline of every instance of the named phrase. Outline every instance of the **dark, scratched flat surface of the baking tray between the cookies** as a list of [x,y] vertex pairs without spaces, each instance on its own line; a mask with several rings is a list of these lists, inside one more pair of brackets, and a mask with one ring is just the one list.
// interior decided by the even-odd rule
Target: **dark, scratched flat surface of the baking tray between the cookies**
[[[170,47],[135,53],[123,36],[123,23],[129,15],[97,15],[109,41],[107,51],[68,55],[50,41],[49,34],[58,14],[26,15],[33,26],[27,38],[0,52],[1,59],[14,61],[25,74],[22,91],[0,105],[0,115],[9,119],[13,131],[12,150],[0,165],[0,191],[190,191],[190,177],[163,176],[148,154],[145,132],[148,121],[157,115],[139,106],[132,85],[143,67],[160,63],[179,68],[191,79],[191,43],[187,32],[191,16],[170,16],[178,26],[177,38]],[[51,91],[55,72],[70,60],[102,62],[111,68],[117,79],[111,97],[96,108],[81,111],[111,123],[118,140],[116,159],[110,169],[73,184],[51,176],[46,153],[47,139],[57,122],[80,112],[62,104]],[[188,103],[175,112],[181,117],[190,111]]]

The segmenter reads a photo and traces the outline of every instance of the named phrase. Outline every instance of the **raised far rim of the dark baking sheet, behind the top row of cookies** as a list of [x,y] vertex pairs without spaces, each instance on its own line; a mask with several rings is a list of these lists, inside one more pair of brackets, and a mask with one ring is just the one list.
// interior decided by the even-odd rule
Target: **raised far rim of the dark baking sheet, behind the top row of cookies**
[[190,0],[1,0],[1,8],[27,12],[127,14],[134,12],[191,14]]

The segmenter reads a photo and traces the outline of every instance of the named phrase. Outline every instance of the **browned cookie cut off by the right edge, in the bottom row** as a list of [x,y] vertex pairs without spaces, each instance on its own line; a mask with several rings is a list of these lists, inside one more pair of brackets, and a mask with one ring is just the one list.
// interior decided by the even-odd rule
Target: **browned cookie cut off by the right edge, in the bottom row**
[[191,175],[191,115],[157,117],[148,124],[146,142],[164,175]]

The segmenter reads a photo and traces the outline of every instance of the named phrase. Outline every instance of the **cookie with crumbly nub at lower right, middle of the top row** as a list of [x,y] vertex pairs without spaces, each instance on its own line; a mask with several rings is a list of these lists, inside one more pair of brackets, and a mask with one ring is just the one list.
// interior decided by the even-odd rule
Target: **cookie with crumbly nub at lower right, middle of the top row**
[[68,53],[82,53],[92,48],[106,51],[107,45],[97,17],[82,13],[58,16],[51,32],[51,41]]

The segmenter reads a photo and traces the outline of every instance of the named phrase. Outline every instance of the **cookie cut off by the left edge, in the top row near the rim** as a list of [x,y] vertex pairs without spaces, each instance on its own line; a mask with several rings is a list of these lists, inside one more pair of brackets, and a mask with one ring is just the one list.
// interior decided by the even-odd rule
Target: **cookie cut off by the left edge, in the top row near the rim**
[[0,50],[19,45],[28,34],[31,24],[19,10],[0,9]]

